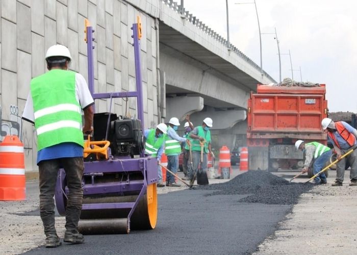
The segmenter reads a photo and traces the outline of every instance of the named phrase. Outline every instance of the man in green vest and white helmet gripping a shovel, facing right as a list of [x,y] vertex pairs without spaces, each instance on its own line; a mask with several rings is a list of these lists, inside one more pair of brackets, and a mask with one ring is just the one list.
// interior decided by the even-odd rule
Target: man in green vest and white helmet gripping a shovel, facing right
[[190,137],[192,138],[192,165],[188,168],[190,182],[194,181],[194,176],[198,169],[200,160],[201,160],[201,143],[203,143],[203,159],[202,159],[202,169],[207,170],[207,154],[210,153],[214,158],[214,154],[211,148],[211,132],[210,128],[213,125],[213,121],[211,118],[203,119],[202,125],[196,126],[190,133]]

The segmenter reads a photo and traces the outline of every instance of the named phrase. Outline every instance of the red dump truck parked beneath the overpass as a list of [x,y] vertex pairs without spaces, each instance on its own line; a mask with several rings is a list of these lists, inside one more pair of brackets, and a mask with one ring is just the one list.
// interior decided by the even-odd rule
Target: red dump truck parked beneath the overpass
[[247,114],[249,169],[277,171],[303,166],[296,140],[326,144],[321,120],[327,117],[325,84],[316,87],[258,85]]

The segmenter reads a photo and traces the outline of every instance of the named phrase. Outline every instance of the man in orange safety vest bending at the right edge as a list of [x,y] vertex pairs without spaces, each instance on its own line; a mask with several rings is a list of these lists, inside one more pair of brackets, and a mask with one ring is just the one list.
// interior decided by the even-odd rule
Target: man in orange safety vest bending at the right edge
[[[328,141],[334,145],[337,157],[341,158],[347,151],[357,144],[357,130],[344,121],[334,122],[330,118],[324,118],[321,121],[322,129],[327,130]],[[347,157],[341,159],[336,167],[336,181],[332,186],[342,186],[343,176],[345,175],[346,159],[348,160],[351,170],[349,186],[357,186],[357,151],[354,150]]]

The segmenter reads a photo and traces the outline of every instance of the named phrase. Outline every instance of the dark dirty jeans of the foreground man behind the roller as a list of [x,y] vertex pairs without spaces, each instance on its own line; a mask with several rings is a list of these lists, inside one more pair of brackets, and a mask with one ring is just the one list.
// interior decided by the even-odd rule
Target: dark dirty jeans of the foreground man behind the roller
[[78,221],[82,210],[82,175],[84,163],[82,157],[60,158],[53,160],[43,160],[39,162],[39,186],[40,186],[40,216],[43,222],[44,233],[56,234],[55,229],[55,202],[54,194],[58,170],[63,166],[66,172],[67,195],[66,206],[66,230],[77,231]]

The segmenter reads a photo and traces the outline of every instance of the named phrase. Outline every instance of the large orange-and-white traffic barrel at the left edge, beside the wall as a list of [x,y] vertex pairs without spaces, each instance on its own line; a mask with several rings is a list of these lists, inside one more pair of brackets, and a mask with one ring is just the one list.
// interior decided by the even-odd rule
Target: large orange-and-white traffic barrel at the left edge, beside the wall
[[0,143],[0,200],[25,198],[23,143],[17,136],[6,136]]

